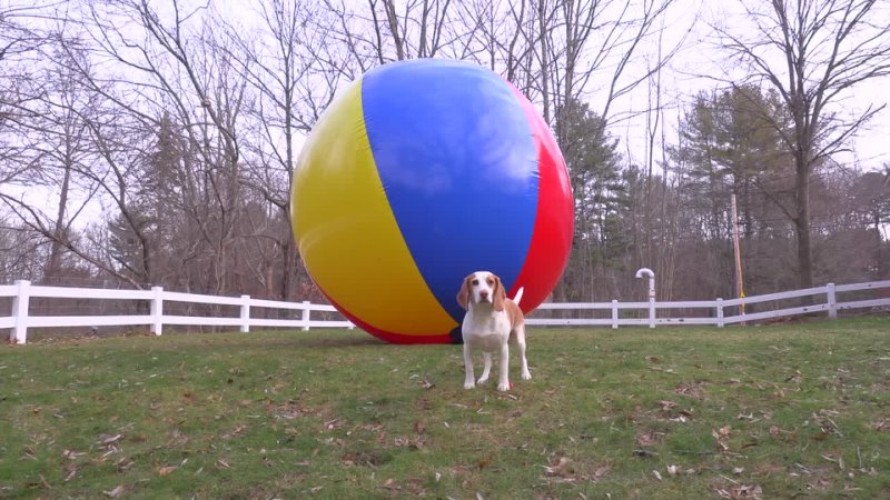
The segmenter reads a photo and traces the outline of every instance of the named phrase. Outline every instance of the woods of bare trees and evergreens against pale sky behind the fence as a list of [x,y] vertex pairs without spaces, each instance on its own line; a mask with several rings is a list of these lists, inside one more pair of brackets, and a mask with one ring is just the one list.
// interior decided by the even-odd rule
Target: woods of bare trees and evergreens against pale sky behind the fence
[[[740,1],[742,29],[690,4],[4,3],[0,282],[320,300],[290,236],[303,140],[346,83],[425,57],[491,68],[554,130],[576,234],[553,300],[639,299],[640,267],[663,300],[734,297],[731,194],[748,294],[890,279],[890,166],[841,154],[883,111],[843,99],[890,76],[890,22],[866,22],[890,12]],[[725,69],[683,94],[694,32]]]

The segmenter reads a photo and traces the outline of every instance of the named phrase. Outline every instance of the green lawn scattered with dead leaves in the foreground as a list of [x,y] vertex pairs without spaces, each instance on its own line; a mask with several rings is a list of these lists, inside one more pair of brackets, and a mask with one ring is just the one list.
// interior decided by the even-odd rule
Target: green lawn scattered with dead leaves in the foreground
[[890,498],[890,318],[530,329],[533,379],[359,331],[0,348],[0,498]]

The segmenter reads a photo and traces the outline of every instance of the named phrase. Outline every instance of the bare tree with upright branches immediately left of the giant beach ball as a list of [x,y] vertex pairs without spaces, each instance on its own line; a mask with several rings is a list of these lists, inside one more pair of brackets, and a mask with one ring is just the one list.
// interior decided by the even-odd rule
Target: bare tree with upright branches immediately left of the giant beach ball
[[[286,299],[298,279],[308,280],[298,266],[290,234],[290,184],[299,140],[342,84],[344,72],[334,68],[347,63],[348,52],[327,43],[326,30],[318,26],[324,13],[315,2],[273,0],[261,4],[258,13],[261,26],[249,34],[238,26],[228,27],[235,49],[228,52],[229,61],[255,94],[248,110],[254,126],[245,140],[249,167],[243,180],[277,211],[274,228],[253,228],[254,233],[274,242],[268,256],[265,246],[257,246],[264,258],[261,269],[254,272],[268,294]],[[265,218],[254,220],[260,223]]]

